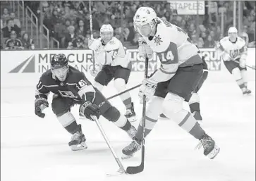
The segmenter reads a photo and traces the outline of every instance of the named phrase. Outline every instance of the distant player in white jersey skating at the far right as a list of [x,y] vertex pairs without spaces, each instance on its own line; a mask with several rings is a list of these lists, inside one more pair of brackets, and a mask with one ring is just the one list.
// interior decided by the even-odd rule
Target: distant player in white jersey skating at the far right
[[221,59],[224,61],[224,65],[235,78],[243,94],[250,94],[246,75],[247,47],[245,40],[238,37],[236,27],[228,29],[228,37],[221,39],[217,47],[221,51]]

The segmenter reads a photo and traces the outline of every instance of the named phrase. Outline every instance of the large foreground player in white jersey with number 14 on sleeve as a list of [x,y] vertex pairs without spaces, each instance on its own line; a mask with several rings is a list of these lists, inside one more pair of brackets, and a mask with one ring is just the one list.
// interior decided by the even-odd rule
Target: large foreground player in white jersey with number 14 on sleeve
[[[150,58],[155,51],[161,61],[160,68],[143,80],[139,96],[151,99],[145,116],[145,135],[157,123],[159,113],[175,121],[180,127],[199,139],[198,148],[203,146],[205,156],[214,158],[219,147],[200,127],[193,115],[185,111],[183,101],[188,101],[202,76],[202,59],[195,44],[181,28],[157,17],[152,8],[141,7],[133,18],[135,30],[142,35],[139,42],[141,56]],[[129,158],[141,148],[142,121],[135,139],[123,149],[123,158]]]

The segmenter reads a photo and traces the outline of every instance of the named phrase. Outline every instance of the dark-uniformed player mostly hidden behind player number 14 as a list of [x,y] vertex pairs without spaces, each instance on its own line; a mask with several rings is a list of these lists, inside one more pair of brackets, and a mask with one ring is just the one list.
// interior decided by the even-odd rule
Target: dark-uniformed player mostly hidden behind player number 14
[[[200,52],[199,52],[200,53]],[[202,116],[200,113],[200,98],[197,94],[199,89],[202,87],[202,84],[205,82],[208,76],[208,66],[207,63],[205,62],[205,57],[202,56],[202,77],[200,79],[200,82],[198,83],[197,87],[195,90],[191,93],[190,99],[188,101],[189,107],[190,107],[190,112],[193,113],[193,116],[196,120],[202,121]],[[167,87],[167,85],[166,85]],[[166,118],[163,113],[160,115],[161,118]]]

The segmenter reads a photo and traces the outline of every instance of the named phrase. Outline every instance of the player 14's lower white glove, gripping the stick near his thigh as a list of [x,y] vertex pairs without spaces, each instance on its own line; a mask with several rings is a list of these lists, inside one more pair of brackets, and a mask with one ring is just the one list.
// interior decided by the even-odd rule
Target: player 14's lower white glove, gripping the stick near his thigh
[[150,79],[143,80],[139,90],[140,104],[143,102],[143,95],[146,96],[146,101],[151,99],[151,97],[154,95],[156,87],[157,82],[154,82]]

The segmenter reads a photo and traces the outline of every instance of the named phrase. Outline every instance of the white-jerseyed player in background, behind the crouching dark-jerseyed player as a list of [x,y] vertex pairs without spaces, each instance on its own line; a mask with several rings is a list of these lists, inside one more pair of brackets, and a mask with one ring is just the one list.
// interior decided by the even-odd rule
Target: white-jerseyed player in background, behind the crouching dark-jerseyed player
[[[111,25],[102,25],[100,28],[100,38],[90,39],[89,48],[95,53],[95,62],[97,67],[90,70],[95,77],[94,86],[102,91],[103,87],[108,85],[114,78],[114,87],[118,92],[126,89],[126,84],[130,77],[131,62],[123,44],[113,36],[114,30]],[[126,92],[120,95],[123,104],[126,106],[126,118],[135,121],[135,111],[130,93]]]

